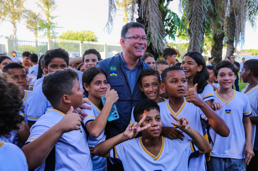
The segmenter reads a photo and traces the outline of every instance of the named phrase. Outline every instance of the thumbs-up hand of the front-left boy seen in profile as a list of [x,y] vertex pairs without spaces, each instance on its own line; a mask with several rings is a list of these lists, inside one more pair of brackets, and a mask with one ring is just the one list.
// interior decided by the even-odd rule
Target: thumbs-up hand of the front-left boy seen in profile
[[68,113],[57,123],[63,133],[78,130],[81,126],[82,119],[78,113],[73,113],[73,110],[74,108],[71,106]]

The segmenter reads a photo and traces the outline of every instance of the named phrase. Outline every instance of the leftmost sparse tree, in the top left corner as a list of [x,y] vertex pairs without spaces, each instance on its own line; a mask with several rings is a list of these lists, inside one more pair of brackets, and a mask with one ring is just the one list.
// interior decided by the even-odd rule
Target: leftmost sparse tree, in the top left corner
[[9,21],[13,25],[13,36],[15,38],[17,32],[17,25],[21,23],[25,0],[1,0],[0,1],[0,22]]

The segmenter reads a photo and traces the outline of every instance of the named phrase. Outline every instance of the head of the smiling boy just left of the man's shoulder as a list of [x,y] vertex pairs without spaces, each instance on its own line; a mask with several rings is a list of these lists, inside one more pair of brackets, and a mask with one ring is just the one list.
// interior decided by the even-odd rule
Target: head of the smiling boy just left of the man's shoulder
[[101,60],[101,55],[96,49],[88,49],[82,56],[82,63],[87,70],[90,67],[96,67],[97,62]]

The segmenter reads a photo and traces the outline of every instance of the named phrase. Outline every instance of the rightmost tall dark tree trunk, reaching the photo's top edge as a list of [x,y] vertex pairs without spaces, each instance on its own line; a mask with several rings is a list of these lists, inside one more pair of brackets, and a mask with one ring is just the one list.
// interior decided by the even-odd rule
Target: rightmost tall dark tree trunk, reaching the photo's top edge
[[[232,4],[232,0],[230,1],[230,4]],[[231,8],[229,17],[227,18],[228,20],[228,28],[227,28],[227,36],[228,36],[228,41],[227,41],[227,56],[231,56],[234,54],[234,40],[235,40],[235,29],[236,29],[236,19],[235,19],[235,14],[234,14],[234,9]]]

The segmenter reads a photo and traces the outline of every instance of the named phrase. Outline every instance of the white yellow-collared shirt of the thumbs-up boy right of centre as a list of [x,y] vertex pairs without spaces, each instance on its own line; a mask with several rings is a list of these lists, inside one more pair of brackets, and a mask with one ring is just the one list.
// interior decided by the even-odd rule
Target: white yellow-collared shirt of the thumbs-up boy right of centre
[[[176,120],[173,119],[172,116],[170,116],[170,113],[172,113],[177,118],[181,118],[181,117],[187,118],[190,126],[195,131],[197,131],[200,135],[203,135],[201,119],[205,123],[208,123],[208,119],[201,111],[201,109],[199,107],[196,107],[193,103],[188,103],[186,99],[184,99],[184,103],[182,104],[180,109],[177,112],[174,112],[169,105],[169,101],[170,99],[168,99],[168,101],[158,103],[159,109],[160,109],[160,117],[162,120],[162,126],[173,127],[173,125],[171,124],[171,121],[176,122]],[[188,135],[184,134],[184,136],[185,138],[190,139]],[[188,170],[205,171],[206,170],[205,155],[201,154],[198,158],[192,158],[190,160]]]

